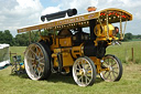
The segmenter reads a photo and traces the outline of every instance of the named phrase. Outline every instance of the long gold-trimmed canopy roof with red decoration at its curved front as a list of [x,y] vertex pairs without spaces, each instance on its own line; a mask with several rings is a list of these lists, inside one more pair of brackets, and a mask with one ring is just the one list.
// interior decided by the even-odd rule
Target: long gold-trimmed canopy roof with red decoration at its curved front
[[121,9],[110,8],[101,11],[88,12],[86,14],[57,19],[46,23],[18,29],[18,33],[33,31],[33,30],[42,30],[42,29],[61,30],[64,28],[73,29],[76,27],[85,28],[85,27],[89,27],[89,20],[97,19],[97,22],[99,22],[98,21],[99,19],[101,23],[105,23],[107,18],[109,23],[120,22],[120,18],[123,22],[123,21],[131,21],[132,14]]

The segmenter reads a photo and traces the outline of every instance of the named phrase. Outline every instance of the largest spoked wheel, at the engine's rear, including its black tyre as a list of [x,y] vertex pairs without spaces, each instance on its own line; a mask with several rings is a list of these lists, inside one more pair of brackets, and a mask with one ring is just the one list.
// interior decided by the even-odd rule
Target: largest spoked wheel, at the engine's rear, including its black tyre
[[25,71],[31,80],[42,80],[50,76],[50,59],[45,49],[43,43],[32,43],[25,51]]

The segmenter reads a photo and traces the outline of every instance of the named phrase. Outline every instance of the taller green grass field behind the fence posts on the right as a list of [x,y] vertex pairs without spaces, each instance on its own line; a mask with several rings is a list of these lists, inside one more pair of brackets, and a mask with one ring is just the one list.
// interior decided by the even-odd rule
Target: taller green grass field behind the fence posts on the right
[[110,45],[107,48],[107,54],[115,54],[122,63],[141,63],[141,41],[122,42],[121,45]]

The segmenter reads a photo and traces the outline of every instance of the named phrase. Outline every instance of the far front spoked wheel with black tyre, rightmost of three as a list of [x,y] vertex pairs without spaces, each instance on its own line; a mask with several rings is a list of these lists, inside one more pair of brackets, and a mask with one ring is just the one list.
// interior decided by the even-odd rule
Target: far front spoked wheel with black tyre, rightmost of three
[[104,59],[102,67],[108,67],[108,71],[100,73],[101,79],[106,82],[119,81],[122,76],[122,64],[118,58],[108,54]]

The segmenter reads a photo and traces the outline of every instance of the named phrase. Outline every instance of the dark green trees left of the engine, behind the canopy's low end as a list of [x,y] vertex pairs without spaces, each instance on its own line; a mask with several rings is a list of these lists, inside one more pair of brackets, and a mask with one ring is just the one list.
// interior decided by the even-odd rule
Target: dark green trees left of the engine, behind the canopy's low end
[[8,43],[11,46],[26,46],[31,42],[36,42],[40,39],[40,34],[36,31],[17,34],[14,38],[9,30],[0,31],[0,43]]

